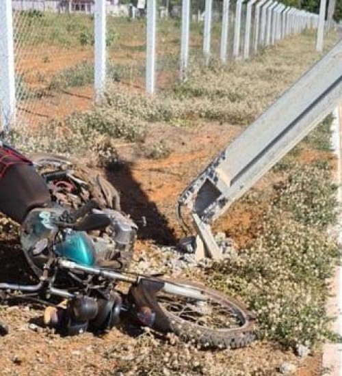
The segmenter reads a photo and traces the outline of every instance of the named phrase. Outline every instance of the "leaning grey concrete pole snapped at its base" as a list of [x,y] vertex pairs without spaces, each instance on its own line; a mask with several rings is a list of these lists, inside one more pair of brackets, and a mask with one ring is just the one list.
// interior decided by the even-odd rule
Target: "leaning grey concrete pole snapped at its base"
[[220,258],[210,224],[336,107],[342,97],[342,41],[308,70],[179,197],[192,209],[207,254]]

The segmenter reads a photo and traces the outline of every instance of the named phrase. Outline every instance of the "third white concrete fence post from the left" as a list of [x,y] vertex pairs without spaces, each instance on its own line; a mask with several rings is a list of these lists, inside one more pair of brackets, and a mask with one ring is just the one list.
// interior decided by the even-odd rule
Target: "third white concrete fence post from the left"
[[155,33],[157,26],[157,0],[147,0],[146,92],[155,92]]

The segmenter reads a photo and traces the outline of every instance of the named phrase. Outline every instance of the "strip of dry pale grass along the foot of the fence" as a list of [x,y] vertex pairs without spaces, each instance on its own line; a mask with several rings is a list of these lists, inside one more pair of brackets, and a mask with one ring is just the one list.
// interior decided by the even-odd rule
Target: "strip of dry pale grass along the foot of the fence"
[[[326,49],[335,40],[333,35],[327,38]],[[97,133],[141,140],[146,121],[192,126],[202,118],[249,124],[317,61],[314,47],[313,34],[304,33],[265,49],[248,62],[220,66],[212,60],[208,67],[194,62],[185,83],[175,83],[172,90],[153,97],[112,84],[101,106],[70,116],[62,124],[62,132],[53,122],[39,134],[31,134],[29,129],[14,132],[13,141],[24,151],[36,148],[72,154],[89,149]],[[64,135],[70,134],[73,140],[65,139]]]

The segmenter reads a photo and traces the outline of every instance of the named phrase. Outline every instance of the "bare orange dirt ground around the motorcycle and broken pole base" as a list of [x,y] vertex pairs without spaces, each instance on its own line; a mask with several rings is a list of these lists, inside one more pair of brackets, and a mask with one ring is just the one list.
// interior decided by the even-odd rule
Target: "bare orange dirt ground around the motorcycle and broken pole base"
[[[137,221],[144,213],[147,220],[146,228],[140,230],[135,260],[142,252],[153,257],[150,250],[156,252],[156,244],[174,245],[182,236],[174,216],[179,193],[242,130],[240,126],[213,123],[198,124],[193,129],[154,124],[150,126],[144,144],[118,144],[121,163],[107,172],[107,178],[121,193],[122,209]],[[158,160],[144,157],[144,150],[159,139],[167,140],[170,156]],[[258,215],[261,211],[257,208],[236,206],[215,228],[224,230],[237,245],[244,245],[254,236]],[[0,263],[4,265],[0,282],[32,282],[18,245],[16,229],[6,224],[1,232]],[[23,304],[20,300],[0,306],[1,319],[10,325],[10,334],[0,338],[1,375],[133,375],[127,371],[131,369],[129,364],[140,362],[140,356],[144,357],[141,354],[145,350],[139,347],[140,337],[137,336],[141,332],[127,323],[105,336],[86,333],[63,338],[42,328],[42,312],[42,306]],[[153,344],[155,339],[150,341]],[[185,345],[178,346],[178,349],[185,349]],[[162,347],[159,351],[174,349],[163,338],[152,351],[158,351],[159,347]],[[292,351],[272,343],[256,342],[246,349],[213,353],[193,351],[194,359],[198,357],[207,364],[207,372],[192,373],[195,375],[278,375],[282,362],[295,364],[298,376],[321,375],[321,354],[300,360]],[[229,371],[230,359],[234,360],[235,366],[241,367],[241,373]],[[254,371],[247,371],[246,364],[248,370]],[[150,372],[138,374],[149,375]],[[153,375],[168,373],[161,366]]]

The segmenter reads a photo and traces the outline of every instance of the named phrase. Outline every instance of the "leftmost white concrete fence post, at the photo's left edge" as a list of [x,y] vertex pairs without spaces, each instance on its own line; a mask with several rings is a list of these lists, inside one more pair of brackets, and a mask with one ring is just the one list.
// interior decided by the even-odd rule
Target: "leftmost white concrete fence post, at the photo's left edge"
[[0,0],[0,122],[9,131],[16,120],[12,0]]

